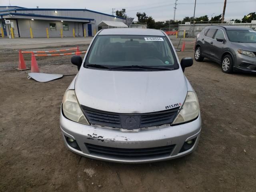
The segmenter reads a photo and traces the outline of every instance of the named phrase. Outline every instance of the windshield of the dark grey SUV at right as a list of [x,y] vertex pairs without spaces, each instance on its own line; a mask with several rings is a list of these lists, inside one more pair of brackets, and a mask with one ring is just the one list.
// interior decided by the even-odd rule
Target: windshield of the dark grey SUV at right
[[256,31],[254,30],[227,30],[227,34],[232,42],[256,43]]

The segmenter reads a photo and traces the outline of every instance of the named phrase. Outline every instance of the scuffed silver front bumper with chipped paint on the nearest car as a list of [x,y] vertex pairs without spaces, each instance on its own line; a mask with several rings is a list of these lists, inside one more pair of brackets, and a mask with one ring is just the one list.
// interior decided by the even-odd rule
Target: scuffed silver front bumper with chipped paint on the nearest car
[[[192,153],[198,145],[198,139],[201,131],[201,115],[199,114],[198,118],[192,122],[177,126],[155,128],[152,130],[140,130],[139,132],[122,132],[120,130],[87,126],[73,122],[64,117],[61,109],[60,128],[66,147],[76,154],[110,162],[146,163],[169,160]],[[76,140],[80,150],[72,148],[68,144],[66,137]],[[184,142],[192,139],[195,139],[192,148],[184,152],[180,152]],[[86,147],[86,144],[122,149],[155,148],[169,145],[173,145],[174,148],[168,156],[131,160],[92,155]]]

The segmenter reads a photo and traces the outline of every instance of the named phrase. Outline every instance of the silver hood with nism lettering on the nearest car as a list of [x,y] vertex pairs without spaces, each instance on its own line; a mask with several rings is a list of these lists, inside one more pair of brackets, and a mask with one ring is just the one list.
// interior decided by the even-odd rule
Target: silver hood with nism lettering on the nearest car
[[181,69],[109,71],[82,68],[75,82],[80,105],[116,113],[148,113],[181,106],[187,87]]

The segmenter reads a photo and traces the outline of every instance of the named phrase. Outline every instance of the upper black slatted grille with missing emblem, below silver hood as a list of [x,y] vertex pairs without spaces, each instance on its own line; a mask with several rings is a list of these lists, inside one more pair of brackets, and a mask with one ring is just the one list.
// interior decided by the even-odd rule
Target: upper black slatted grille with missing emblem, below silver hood
[[172,124],[180,107],[144,114],[120,114],[81,106],[91,124],[123,129],[138,129]]

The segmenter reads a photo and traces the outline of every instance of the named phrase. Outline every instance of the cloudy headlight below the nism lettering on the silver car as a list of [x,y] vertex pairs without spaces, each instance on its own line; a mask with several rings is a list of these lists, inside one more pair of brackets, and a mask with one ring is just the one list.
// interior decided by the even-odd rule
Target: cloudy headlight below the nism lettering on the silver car
[[200,112],[198,98],[195,92],[188,91],[182,109],[172,124],[184,123],[198,117]]

